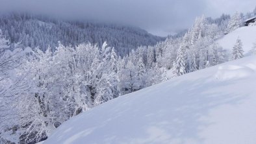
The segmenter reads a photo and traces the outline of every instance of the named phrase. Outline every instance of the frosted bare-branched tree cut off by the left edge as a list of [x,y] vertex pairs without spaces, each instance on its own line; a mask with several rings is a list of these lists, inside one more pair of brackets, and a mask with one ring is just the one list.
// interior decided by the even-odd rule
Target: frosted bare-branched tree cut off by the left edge
[[[2,37],[3,38],[3,37]],[[16,69],[22,64],[25,51],[15,49],[9,51],[6,40],[1,40],[0,44],[0,143],[18,143],[21,134],[21,117],[23,113],[19,106],[20,97],[29,91],[27,82],[23,80],[24,75],[20,75]],[[27,50],[27,49],[26,49]],[[26,106],[26,105],[24,105]]]

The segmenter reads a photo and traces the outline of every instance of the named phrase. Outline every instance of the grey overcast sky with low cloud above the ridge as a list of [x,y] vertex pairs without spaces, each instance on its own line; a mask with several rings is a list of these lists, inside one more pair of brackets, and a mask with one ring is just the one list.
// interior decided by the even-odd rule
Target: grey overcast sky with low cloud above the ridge
[[121,23],[167,34],[186,29],[196,16],[250,12],[256,0],[0,0],[0,12],[25,10],[60,18]]

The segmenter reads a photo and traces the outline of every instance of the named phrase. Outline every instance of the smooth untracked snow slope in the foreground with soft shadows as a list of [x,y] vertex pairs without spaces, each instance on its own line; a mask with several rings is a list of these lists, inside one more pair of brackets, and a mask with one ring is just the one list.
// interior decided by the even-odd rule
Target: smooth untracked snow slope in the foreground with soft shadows
[[256,56],[145,88],[62,124],[49,143],[256,143]]

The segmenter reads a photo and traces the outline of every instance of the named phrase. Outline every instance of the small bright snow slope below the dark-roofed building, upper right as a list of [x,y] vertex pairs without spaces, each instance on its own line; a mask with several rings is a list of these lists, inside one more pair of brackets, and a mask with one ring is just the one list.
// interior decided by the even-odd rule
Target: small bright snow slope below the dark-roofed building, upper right
[[218,40],[218,43],[224,49],[231,50],[234,47],[238,36],[240,40],[242,40],[245,54],[248,53],[253,47],[253,43],[256,43],[256,26],[240,27],[229,34],[226,34],[224,38]]

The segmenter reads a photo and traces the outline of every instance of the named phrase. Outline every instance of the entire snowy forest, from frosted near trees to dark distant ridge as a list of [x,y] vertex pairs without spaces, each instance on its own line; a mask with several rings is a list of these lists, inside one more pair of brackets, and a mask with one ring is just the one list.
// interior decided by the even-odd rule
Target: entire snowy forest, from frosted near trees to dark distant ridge
[[167,38],[134,27],[1,16],[0,143],[42,141],[103,102],[242,58],[239,38],[233,51],[216,41],[252,16],[256,9],[200,16],[184,34]]

